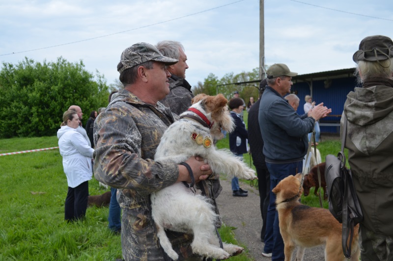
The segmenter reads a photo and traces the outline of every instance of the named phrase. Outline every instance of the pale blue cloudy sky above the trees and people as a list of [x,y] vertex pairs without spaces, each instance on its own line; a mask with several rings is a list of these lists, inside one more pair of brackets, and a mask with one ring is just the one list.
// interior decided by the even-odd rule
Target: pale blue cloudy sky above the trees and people
[[[392,0],[266,0],[264,10],[266,65],[300,74],[354,67],[365,36],[393,37]],[[259,0],[0,0],[0,35],[1,62],[82,60],[108,84],[128,46],[177,40],[195,86],[259,66]]]

